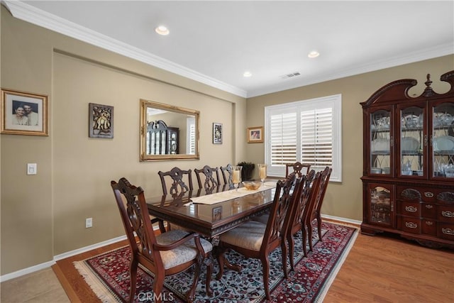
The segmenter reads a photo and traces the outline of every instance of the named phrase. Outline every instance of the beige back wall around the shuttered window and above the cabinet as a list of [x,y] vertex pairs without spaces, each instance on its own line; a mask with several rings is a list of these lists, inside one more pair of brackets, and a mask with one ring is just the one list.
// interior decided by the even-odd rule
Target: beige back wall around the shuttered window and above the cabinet
[[[440,76],[453,69],[454,55],[449,55],[250,98],[247,101],[246,126],[264,124],[265,106],[342,94],[342,183],[329,183],[321,212],[361,221],[362,108],[360,102],[366,101],[384,84],[397,79],[416,79],[418,85],[412,87],[409,94],[419,96],[425,88],[424,82],[428,73],[432,75],[433,89],[439,94],[447,92],[449,84],[440,82]],[[263,162],[263,144],[249,144],[247,158],[252,162]]]

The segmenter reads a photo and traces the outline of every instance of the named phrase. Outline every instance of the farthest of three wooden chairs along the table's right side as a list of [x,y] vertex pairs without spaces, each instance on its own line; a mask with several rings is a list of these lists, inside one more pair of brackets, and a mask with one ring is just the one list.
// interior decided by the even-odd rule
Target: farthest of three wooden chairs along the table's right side
[[[312,238],[312,221],[314,221],[315,219],[317,219],[317,230],[319,232],[319,239],[320,241],[322,241],[321,239],[321,204],[323,203],[323,199],[325,197],[325,193],[326,193],[326,188],[328,187],[328,182],[329,182],[329,178],[331,177],[331,172],[333,171],[333,169],[331,167],[325,167],[325,169],[323,170],[323,172],[321,172],[321,177],[320,177],[320,183],[319,183],[319,187],[318,187],[318,190],[317,190],[317,197],[314,201],[314,205],[311,206],[311,209],[309,210],[309,218],[306,220],[306,227],[307,227],[307,231],[308,231],[308,238],[311,239]],[[309,248],[310,250],[312,250],[312,241],[309,242]]]

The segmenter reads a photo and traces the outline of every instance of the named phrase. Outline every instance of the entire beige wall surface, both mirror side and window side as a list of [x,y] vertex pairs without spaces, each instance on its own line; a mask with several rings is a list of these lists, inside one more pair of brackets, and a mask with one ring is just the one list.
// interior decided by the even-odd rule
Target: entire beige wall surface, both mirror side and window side
[[[263,144],[247,144],[245,128],[263,125],[264,106],[331,94],[343,96],[343,183],[330,184],[322,211],[360,220],[359,102],[395,79],[422,83],[427,72],[438,90],[436,79],[453,70],[453,60],[441,57],[245,101],[19,21],[1,6],[1,87],[47,94],[50,104],[48,137],[0,135],[1,275],[123,235],[110,180],[127,177],[154,195],[161,190],[159,170],[262,162]],[[199,110],[201,159],[139,162],[139,99]],[[90,102],[114,106],[114,139],[88,138]],[[213,122],[223,123],[222,145],[211,143]],[[38,175],[26,175],[28,162],[38,163]],[[84,228],[87,217],[93,228]]]

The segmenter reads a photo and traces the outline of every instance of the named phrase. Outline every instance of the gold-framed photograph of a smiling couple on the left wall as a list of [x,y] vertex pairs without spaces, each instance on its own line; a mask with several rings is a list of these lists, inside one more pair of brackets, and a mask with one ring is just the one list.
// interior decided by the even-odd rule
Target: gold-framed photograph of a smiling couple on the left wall
[[1,89],[1,133],[49,136],[48,96]]

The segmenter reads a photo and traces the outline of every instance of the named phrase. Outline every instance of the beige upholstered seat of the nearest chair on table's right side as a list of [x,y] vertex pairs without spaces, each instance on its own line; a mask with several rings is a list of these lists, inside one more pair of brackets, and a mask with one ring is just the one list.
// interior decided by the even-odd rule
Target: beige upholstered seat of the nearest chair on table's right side
[[266,224],[248,221],[226,233],[222,233],[219,239],[233,246],[259,251],[262,247],[266,228]]

